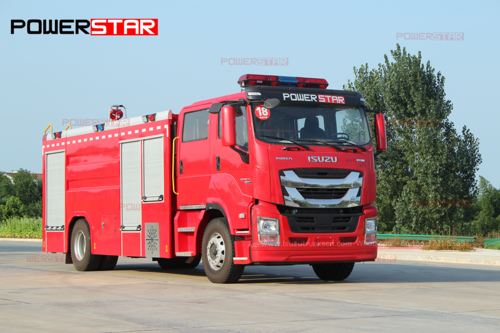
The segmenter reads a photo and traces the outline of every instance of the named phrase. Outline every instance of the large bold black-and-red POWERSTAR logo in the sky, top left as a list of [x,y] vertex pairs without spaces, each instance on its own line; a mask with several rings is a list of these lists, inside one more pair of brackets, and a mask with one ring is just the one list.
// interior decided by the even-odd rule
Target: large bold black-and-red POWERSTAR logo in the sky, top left
[[[157,36],[157,18],[11,19],[10,34],[90,34],[114,36]],[[90,32],[88,32],[88,30]]]

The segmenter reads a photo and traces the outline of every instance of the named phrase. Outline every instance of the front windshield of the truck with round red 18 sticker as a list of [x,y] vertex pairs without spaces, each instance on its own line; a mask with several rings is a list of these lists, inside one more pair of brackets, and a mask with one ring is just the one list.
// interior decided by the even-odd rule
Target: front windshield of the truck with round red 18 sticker
[[283,139],[307,145],[321,144],[316,140],[337,141],[338,144],[349,140],[359,145],[370,142],[366,113],[361,107],[297,106],[281,102],[273,109],[253,103],[251,110],[255,136],[269,143],[278,143]]

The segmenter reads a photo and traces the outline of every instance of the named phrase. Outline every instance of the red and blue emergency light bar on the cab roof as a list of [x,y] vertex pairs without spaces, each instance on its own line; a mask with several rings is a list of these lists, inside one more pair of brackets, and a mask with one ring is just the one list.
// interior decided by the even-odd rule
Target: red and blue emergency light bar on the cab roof
[[276,76],[276,75],[255,75],[245,74],[238,79],[241,87],[251,85],[270,86],[296,86],[299,88],[320,88],[326,89],[328,82],[324,78]]

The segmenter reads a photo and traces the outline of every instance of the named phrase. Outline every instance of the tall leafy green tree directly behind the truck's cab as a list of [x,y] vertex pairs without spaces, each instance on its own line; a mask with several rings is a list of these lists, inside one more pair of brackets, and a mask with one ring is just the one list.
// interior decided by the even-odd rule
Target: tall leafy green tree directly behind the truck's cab
[[420,52],[408,54],[397,44],[390,53],[394,61],[384,55],[376,69],[354,67],[354,81],[344,86],[361,92],[388,120],[388,149],[375,159],[379,229],[467,232],[481,162],[478,140],[465,126],[457,134],[444,77],[422,63]]

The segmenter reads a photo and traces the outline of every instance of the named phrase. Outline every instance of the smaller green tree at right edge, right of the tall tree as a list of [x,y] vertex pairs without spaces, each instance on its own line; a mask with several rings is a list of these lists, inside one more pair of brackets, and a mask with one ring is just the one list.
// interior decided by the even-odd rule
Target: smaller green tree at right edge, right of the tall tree
[[494,188],[484,177],[479,176],[477,207],[480,209],[473,224],[482,234],[500,231],[500,189]]

